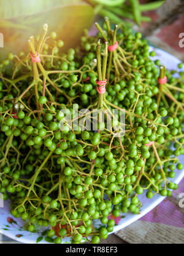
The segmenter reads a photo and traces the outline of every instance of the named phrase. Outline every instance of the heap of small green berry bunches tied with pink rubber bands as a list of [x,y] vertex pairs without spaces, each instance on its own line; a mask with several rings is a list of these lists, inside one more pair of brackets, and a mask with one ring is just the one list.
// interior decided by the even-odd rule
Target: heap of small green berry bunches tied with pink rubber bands
[[[97,36],[85,34],[67,54],[59,50],[63,41],[56,33],[45,41],[46,27],[37,48],[33,36],[28,41],[39,63],[23,53],[8,55],[8,70],[1,63],[0,192],[29,231],[49,226],[47,237],[58,244],[65,236],[74,243],[107,238],[115,226],[109,215],[139,214],[137,196],[144,191],[147,198],[171,196],[177,185],[169,178],[183,169],[177,159],[184,153],[182,64],[178,71],[159,68],[140,33],[123,26],[112,31],[107,19],[103,29],[96,26]],[[107,43],[115,41],[118,48],[108,54]],[[158,84],[165,74],[167,83]],[[99,95],[96,79],[104,78],[106,92]],[[104,111],[96,130],[64,121],[61,110],[74,117],[82,108]],[[125,135],[115,136],[120,114],[107,127],[113,109],[125,113]]]

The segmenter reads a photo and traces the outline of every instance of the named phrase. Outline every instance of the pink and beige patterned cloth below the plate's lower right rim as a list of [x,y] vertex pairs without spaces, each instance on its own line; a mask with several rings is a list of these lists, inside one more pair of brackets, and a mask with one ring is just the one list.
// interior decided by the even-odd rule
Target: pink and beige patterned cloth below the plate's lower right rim
[[170,198],[116,234],[131,244],[183,244],[184,178]]

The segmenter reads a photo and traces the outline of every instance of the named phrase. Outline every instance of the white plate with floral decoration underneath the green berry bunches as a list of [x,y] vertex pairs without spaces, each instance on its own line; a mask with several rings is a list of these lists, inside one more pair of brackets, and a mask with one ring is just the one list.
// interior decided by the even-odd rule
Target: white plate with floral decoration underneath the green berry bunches
[[[153,50],[153,47],[150,47],[150,50]],[[168,54],[167,52],[164,52],[164,50],[161,49],[154,49],[156,52],[156,56],[152,57],[152,60],[160,59],[161,63],[163,65],[166,65],[168,70],[175,70],[177,69],[178,63],[180,63],[180,60],[172,56],[171,54]],[[180,162],[184,164],[184,156],[178,157]],[[179,183],[180,180],[184,177],[184,170],[177,170],[175,178],[172,179],[172,182]],[[141,194],[139,196],[140,201],[142,202],[142,207],[140,210],[140,214],[123,214],[125,218],[120,218],[118,225],[114,227],[113,232],[116,232],[118,230],[121,230],[122,228],[125,228],[126,226],[130,225],[132,222],[135,222],[139,218],[143,217],[145,214],[150,212],[154,207],[158,206],[158,204],[163,201],[164,197],[160,196],[159,194],[156,194],[153,196],[152,199],[147,199],[144,194]],[[15,220],[16,223],[13,223],[12,220]],[[12,222],[12,223],[10,223]],[[98,221],[96,222],[96,225],[98,225]],[[26,244],[34,244],[36,243],[36,240],[39,236],[42,236],[42,230],[38,231],[37,233],[31,233],[29,231],[24,230],[23,226],[25,225],[25,222],[23,222],[20,218],[14,218],[12,215],[10,215],[10,202],[6,201],[4,202],[4,208],[0,208],[0,230],[1,233],[5,236],[8,236],[9,238],[15,239],[19,242],[24,242]],[[18,237],[18,236],[19,237]],[[47,243],[44,239],[40,241],[39,243]],[[71,243],[71,238],[64,238],[63,243]]]

